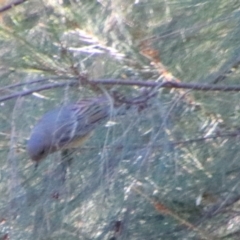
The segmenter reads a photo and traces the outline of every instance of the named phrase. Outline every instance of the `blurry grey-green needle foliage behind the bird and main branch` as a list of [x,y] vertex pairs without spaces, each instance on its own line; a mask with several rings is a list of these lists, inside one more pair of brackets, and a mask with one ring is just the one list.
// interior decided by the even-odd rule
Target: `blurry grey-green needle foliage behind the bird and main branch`
[[25,151],[45,112],[98,94],[78,75],[238,85],[238,0],[0,3],[0,239],[239,239],[238,91],[161,88],[65,172],[60,153],[34,170]]

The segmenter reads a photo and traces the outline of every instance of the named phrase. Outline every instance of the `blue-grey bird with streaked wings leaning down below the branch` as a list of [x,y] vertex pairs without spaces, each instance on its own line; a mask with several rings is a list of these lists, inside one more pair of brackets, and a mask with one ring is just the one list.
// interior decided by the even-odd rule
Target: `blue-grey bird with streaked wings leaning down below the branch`
[[50,110],[32,129],[28,155],[38,164],[51,153],[81,146],[114,111],[107,96],[82,99]]

